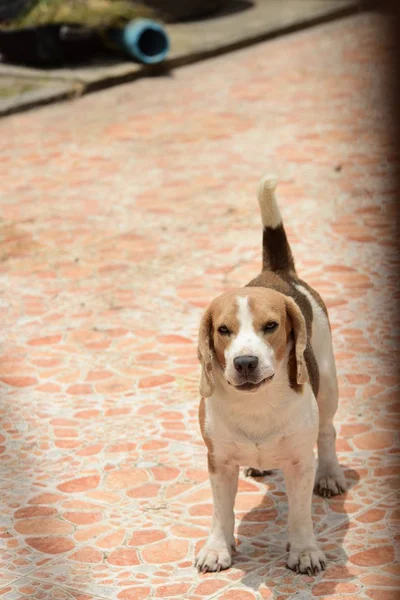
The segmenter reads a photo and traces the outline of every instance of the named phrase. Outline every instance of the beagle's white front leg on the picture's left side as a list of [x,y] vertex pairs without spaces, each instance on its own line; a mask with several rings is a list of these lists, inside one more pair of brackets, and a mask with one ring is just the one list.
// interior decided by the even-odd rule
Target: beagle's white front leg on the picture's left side
[[214,513],[208,540],[197,555],[199,571],[221,571],[232,564],[232,551],[235,547],[233,530],[235,516],[233,507],[238,485],[237,465],[215,465],[209,469]]

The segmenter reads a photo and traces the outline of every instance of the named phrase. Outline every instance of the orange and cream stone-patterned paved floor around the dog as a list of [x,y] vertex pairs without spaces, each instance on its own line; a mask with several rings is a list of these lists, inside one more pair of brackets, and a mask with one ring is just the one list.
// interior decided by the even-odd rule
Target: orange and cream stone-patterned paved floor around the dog
[[[389,46],[359,15],[1,122],[1,598],[398,594]],[[267,170],[330,308],[350,489],[314,498],[314,578],[284,566],[282,475],[241,478],[235,564],[198,575],[197,327],[258,272]]]

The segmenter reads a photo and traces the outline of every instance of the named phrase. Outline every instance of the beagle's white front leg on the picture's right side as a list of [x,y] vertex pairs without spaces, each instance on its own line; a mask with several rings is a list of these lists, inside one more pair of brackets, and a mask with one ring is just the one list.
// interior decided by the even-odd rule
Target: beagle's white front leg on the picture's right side
[[311,518],[315,458],[311,452],[284,469],[289,500],[289,558],[287,566],[297,573],[316,574],[325,569],[325,556],[318,549]]

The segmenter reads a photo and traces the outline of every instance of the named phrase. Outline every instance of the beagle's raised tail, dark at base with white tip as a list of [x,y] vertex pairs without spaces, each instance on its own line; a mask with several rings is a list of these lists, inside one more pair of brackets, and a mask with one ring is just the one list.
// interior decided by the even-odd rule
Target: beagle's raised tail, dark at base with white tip
[[278,179],[274,175],[266,175],[258,188],[258,202],[264,228],[262,270],[295,273],[294,259],[276,201],[277,184]]

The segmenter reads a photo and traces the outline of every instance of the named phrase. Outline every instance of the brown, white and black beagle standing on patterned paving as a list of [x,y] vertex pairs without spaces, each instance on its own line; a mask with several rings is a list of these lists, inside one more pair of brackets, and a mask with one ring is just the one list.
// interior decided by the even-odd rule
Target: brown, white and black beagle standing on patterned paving
[[325,497],[346,489],[335,450],[338,385],[328,313],[319,294],[296,274],[276,183],[265,177],[258,193],[261,274],[216,298],[200,325],[199,421],[214,504],[211,532],[195,563],[203,573],[232,564],[240,466],[250,465],[248,474],[256,476],[283,469],[287,566],[297,573],[325,568],[313,532],[313,489]]

